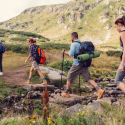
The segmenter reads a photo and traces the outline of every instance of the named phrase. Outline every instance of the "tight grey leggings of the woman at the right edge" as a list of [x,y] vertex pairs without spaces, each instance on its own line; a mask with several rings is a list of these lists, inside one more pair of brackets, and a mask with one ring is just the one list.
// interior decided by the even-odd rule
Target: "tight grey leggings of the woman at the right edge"
[[119,72],[119,68],[117,70],[116,73],[116,77],[115,77],[115,83],[117,84],[117,86],[123,82],[123,78],[125,77],[125,66],[124,66],[124,71],[123,72]]

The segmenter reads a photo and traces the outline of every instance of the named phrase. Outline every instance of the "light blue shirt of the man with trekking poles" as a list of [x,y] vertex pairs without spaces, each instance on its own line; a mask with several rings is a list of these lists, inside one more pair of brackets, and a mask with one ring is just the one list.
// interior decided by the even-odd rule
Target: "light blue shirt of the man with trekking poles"
[[[80,40],[76,40],[76,41],[81,42]],[[68,52],[69,56],[74,56],[75,54],[78,54],[79,48],[80,48],[80,44],[77,42],[73,42],[70,46],[70,51]],[[78,59],[76,58],[73,59],[73,65],[76,65],[76,66],[80,65],[78,62]]]

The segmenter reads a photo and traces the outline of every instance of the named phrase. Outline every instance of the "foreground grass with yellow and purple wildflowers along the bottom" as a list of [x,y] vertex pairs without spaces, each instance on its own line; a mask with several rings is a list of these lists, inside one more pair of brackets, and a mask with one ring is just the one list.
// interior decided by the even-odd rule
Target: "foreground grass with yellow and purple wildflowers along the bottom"
[[[48,120],[49,125],[124,125],[125,122],[125,108],[122,106],[111,106],[107,103],[102,103],[105,111],[103,113],[95,113],[91,111],[80,111],[78,113],[73,113],[72,115],[61,114],[57,115],[63,109],[53,108],[50,112],[50,118]],[[18,119],[19,118],[19,119]],[[0,121],[0,125],[45,125],[43,123],[43,118],[37,117],[34,112],[34,118],[28,120],[24,116],[16,116],[12,119],[4,118]]]

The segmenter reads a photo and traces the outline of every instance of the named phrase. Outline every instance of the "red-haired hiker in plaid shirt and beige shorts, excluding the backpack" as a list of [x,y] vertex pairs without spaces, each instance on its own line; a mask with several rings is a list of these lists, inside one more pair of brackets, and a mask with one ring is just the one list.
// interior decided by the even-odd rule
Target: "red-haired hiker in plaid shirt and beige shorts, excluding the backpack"
[[30,44],[30,55],[28,56],[28,58],[25,60],[25,63],[27,63],[27,61],[31,58],[32,61],[32,67],[30,68],[30,74],[29,74],[29,79],[27,80],[27,82],[25,82],[26,84],[30,84],[31,83],[31,78],[33,76],[33,70],[37,70],[38,74],[40,75],[40,77],[43,80],[42,84],[47,84],[46,79],[44,78],[42,72],[39,69],[39,64],[36,62],[36,41],[32,38],[29,39],[29,44]]

